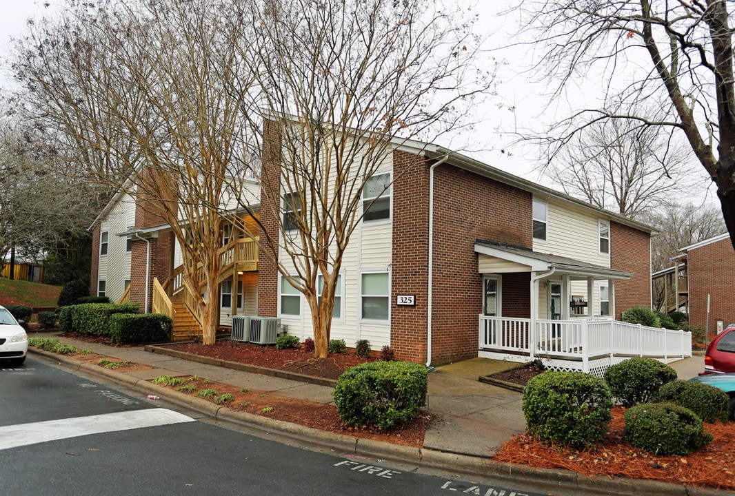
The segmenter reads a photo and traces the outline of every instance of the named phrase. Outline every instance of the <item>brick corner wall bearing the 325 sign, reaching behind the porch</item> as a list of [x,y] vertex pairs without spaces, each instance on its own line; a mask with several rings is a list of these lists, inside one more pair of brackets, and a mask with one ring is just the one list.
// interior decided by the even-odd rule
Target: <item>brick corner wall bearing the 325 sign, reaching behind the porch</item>
[[[394,168],[410,159],[394,155]],[[482,275],[477,238],[531,247],[531,193],[440,165],[434,172],[434,273],[431,363],[477,356],[478,315],[482,312]],[[394,184],[392,298],[428,298],[429,169],[416,168]],[[401,215],[404,209],[412,212]],[[426,212],[426,213],[424,213]],[[420,232],[421,226],[427,230]],[[503,314],[528,316],[529,276],[503,276]],[[506,298],[506,295],[509,295]],[[507,312],[507,313],[506,313]],[[410,317],[410,318],[409,318]],[[397,356],[426,360],[426,309],[392,309],[391,344]]]

